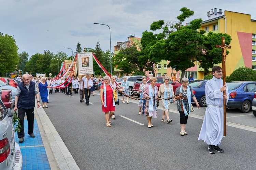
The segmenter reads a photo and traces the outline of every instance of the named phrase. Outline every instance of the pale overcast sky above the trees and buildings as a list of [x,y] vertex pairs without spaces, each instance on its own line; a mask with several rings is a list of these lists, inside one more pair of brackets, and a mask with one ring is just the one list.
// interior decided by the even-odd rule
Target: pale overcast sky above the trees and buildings
[[[50,50],[66,52],[71,56],[76,44],[95,48],[99,40],[101,49],[111,51],[117,42],[124,42],[129,35],[141,37],[150,30],[153,21],[177,21],[182,7],[194,11],[196,18],[207,20],[207,12],[213,8],[245,14],[256,19],[252,0],[0,0],[0,32],[13,35],[19,52],[29,57]],[[217,10],[217,11],[218,11]],[[185,24],[184,22],[184,24]]]

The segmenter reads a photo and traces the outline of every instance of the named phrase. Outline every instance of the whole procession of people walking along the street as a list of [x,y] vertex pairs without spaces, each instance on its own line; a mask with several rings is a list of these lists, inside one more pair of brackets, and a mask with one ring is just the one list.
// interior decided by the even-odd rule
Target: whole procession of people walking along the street
[[[205,97],[207,99],[207,109],[202,124],[202,128],[199,134],[198,140],[203,140],[208,144],[208,152],[214,154],[215,151],[223,152],[223,149],[219,148],[219,144],[223,138],[223,100],[228,102],[229,93],[227,86],[223,86],[222,68],[220,66],[214,66],[212,68],[213,78],[207,81],[205,85]],[[105,76],[98,78],[98,90],[100,92],[100,100],[102,105],[102,112],[105,115],[106,126],[111,127],[111,118],[115,119],[115,106],[119,105],[118,92],[122,92],[123,103],[129,104],[129,82],[127,77],[123,77],[121,86],[118,86],[115,82],[116,76]],[[68,81],[66,81],[68,79]],[[34,106],[35,98],[37,99],[37,107],[39,108],[39,93],[43,107],[47,108],[49,94],[52,94],[53,88],[55,93],[63,92],[67,95],[72,95],[72,89],[74,94],[80,93],[80,102],[84,102],[88,106],[90,95],[94,95],[95,77],[90,75],[82,76],[81,78],[67,77],[65,79],[53,80],[52,78],[33,78],[32,75],[24,74],[22,82],[18,84],[17,92],[15,96],[15,107],[14,111],[18,109],[18,117],[21,125],[21,130],[18,132],[19,142],[24,140],[24,116],[27,114],[28,119],[28,134],[30,137],[35,137],[33,134],[33,119],[34,119]],[[162,107],[162,122],[170,123],[172,119],[169,117],[169,110],[172,103],[177,102],[177,111],[180,113],[180,135],[188,135],[185,131],[185,127],[188,121],[188,115],[193,111],[191,101],[196,103],[197,108],[199,104],[193,93],[192,88],[188,85],[188,82],[194,81],[192,75],[190,78],[182,78],[182,85],[173,90],[171,84],[169,84],[170,77],[166,76],[163,78],[164,83],[160,85],[159,89],[156,86],[156,77],[150,78],[150,84],[146,83],[146,78],[142,79],[140,84],[139,92],[139,115],[145,115],[147,118],[148,128],[154,127],[152,124],[152,118],[157,118],[157,107],[159,102]],[[68,82],[70,81],[70,84]],[[66,82],[65,84],[63,84]],[[62,84],[62,85],[61,85]],[[61,86],[60,86],[61,85]],[[58,88],[55,88],[58,87]],[[26,90],[28,89],[28,90]],[[27,92],[29,91],[29,93]],[[223,92],[226,91],[226,95]],[[31,98],[30,98],[31,95]],[[32,97],[33,96],[33,97]],[[125,102],[126,97],[126,102]],[[30,101],[29,101],[30,100]],[[32,102],[33,100],[33,102]],[[31,103],[32,102],[32,103]]]

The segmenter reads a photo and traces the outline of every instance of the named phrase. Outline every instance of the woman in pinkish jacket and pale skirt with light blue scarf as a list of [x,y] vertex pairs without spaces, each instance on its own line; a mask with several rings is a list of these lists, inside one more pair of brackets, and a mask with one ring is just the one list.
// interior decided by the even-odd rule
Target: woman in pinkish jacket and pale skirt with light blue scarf
[[146,99],[146,106],[144,109],[144,114],[147,116],[147,127],[153,127],[154,125],[151,124],[151,119],[157,118],[157,112],[156,112],[156,98],[157,98],[157,92],[158,87],[156,87],[156,78],[151,77],[150,78],[150,85],[145,86],[143,97]]

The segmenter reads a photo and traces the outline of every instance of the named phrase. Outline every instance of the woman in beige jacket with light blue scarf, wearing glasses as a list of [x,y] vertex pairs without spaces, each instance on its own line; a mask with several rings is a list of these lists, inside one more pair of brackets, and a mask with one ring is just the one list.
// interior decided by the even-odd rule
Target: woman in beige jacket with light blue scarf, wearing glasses
[[[170,108],[170,103],[175,102],[174,98],[174,92],[173,92],[173,87],[171,84],[169,84],[170,77],[165,76],[163,78],[163,84],[160,85],[159,91],[158,91],[158,96],[161,96],[162,99],[162,107],[163,107],[163,116],[162,116],[162,122],[167,122],[170,123],[172,119],[169,118],[169,108]],[[165,119],[166,117],[166,119]]]

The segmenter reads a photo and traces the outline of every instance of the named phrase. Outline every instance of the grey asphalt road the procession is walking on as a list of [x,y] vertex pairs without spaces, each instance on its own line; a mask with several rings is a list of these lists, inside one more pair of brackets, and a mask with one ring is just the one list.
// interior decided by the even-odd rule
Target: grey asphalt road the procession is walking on
[[44,108],[82,170],[256,169],[256,117],[252,112],[227,111],[232,126],[227,126],[227,136],[220,145],[224,153],[213,155],[207,144],[197,140],[205,108],[190,114],[189,134],[185,136],[180,136],[176,104],[170,112],[170,124],[161,122],[162,110],[158,109],[158,118],[152,119],[154,127],[148,128],[146,117],[138,114],[138,100],[130,99],[130,104],[116,107],[116,120],[112,120],[112,127],[106,127],[98,94],[91,96],[91,104],[86,106],[79,102],[78,94],[53,93]]

